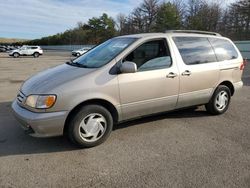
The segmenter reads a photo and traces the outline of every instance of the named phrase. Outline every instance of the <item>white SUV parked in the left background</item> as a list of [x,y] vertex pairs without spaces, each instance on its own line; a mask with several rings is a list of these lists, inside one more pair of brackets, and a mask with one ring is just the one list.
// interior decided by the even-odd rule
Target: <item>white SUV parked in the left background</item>
[[33,56],[35,58],[43,55],[43,50],[40,46],[22,46],[19,49],[15,49],[9,52],[9,56],[15,58],[19,56]]

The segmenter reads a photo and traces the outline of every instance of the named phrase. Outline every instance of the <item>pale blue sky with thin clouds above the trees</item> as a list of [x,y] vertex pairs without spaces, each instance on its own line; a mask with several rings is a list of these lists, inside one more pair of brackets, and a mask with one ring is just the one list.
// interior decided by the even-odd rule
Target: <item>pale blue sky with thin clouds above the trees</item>
[[73,28],[77,22],[86,22],[104,12],[114,18],[118,13],[128,14],[141,2],[142,0],[0,0],[0,37],[41,38]]

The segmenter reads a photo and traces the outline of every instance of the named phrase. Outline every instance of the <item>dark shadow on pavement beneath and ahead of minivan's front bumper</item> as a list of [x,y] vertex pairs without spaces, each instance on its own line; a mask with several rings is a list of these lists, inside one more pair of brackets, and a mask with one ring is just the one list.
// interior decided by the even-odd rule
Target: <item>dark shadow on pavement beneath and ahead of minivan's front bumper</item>
[[64,137],[33,138],[26,135],[11,112],[11,102],[0,103],[0,157],[62,152],[78,149]]

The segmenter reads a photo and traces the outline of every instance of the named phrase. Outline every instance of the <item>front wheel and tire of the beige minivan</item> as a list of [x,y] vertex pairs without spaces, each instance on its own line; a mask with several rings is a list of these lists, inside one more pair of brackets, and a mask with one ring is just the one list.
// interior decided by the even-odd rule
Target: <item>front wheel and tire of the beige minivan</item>
[[103,143],[113,129],[110,112],[99,105],[82,107],[70,120],[68,137],[81,148],[89,148]]

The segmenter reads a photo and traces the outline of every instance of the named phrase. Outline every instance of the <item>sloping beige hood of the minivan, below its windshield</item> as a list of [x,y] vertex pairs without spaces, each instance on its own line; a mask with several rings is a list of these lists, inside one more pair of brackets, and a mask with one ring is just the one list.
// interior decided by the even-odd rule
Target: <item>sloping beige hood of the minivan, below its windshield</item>
[[54,94],[53,89],[66,82],[78,79],[95,69],[86,69],[63,64],[42,71],[26,80],[21,91],[27,96],[30,94]]

